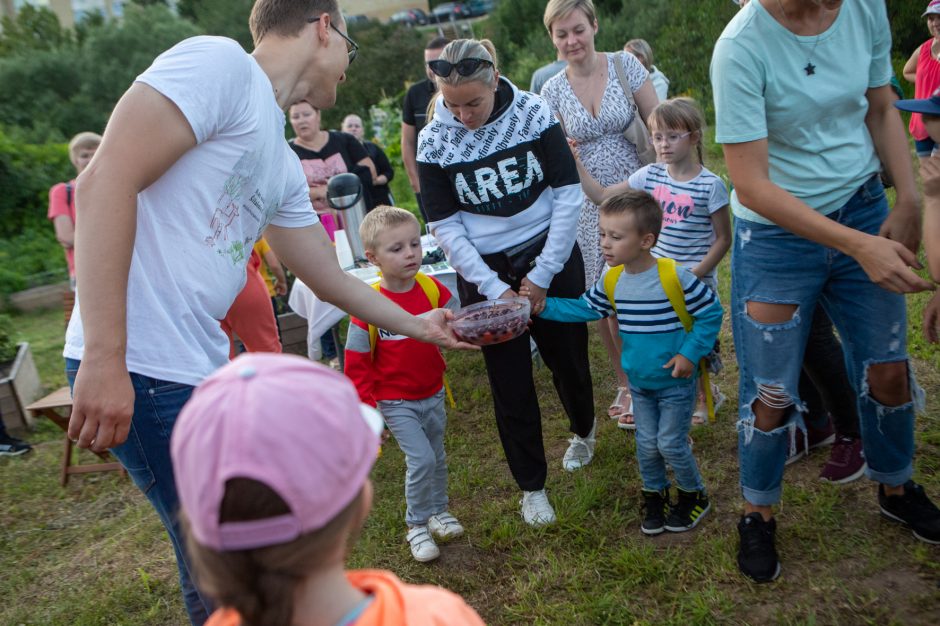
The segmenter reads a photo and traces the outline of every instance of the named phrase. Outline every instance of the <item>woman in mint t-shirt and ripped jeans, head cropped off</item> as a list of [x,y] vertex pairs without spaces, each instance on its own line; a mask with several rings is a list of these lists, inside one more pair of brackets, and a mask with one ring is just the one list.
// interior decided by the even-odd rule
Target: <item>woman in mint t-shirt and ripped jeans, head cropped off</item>
[[[845,341],[882,513],[940,542],[940,511],[911,481],[923,392],[910,374],[901,294],[931,284],[910,270],[920,198],[892,106],[890,33],[881,0],[753,0],[712,58],[717,141],[735,187],[738,565],[758,582],[780,573],[772,507],[789,429],[804,427],[798,380],[817,303]],[[890,213],[882,161],[897,189]]]

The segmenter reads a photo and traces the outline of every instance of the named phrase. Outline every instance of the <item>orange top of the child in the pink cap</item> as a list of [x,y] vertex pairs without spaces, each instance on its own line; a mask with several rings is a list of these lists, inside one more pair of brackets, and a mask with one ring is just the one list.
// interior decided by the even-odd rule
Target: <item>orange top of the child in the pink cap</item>
[[[409,585],[383,570],[353,570],[346,578],[372,596],[355,626],[484,626],[463,598],[441,587]],[[241,626],[241,618],[233,609],[219,609],[206,626]]]

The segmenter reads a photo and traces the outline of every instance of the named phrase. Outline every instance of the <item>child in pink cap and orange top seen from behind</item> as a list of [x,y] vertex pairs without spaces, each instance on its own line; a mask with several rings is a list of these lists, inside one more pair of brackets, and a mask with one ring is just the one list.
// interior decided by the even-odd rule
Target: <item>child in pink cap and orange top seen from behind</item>
[[193,393],[171,451],[207,626],[471,625],[457,595],[345,571],[372,503],[382,419],[342,375],[246,354]]

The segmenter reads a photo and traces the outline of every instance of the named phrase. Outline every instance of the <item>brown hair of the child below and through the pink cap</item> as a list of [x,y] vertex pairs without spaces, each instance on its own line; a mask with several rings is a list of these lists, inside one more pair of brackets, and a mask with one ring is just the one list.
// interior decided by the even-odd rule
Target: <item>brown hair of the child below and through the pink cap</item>
[[[319,530],[287,543],[253,550],[223,552],[201,545],[189,529],[185,512],[180,513],[196,583],[219,606],[235,609],[242,626],[290,624],[294,591],[311,573],[329,566],[335,558],[341,542],[351,531],[363,497],[360,491]],[[289,512],[284,500],[263,483],[233,478],[226,484],[219,519],[249,521]]]

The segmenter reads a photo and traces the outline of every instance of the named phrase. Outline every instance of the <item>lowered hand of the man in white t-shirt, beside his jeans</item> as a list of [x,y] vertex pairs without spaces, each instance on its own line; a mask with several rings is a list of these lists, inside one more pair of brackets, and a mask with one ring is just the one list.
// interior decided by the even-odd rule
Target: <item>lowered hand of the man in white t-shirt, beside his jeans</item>
[[75,377],[68,436],[79,448],[104,452],[127,440],[134,387],[120,360],[83,360]]

